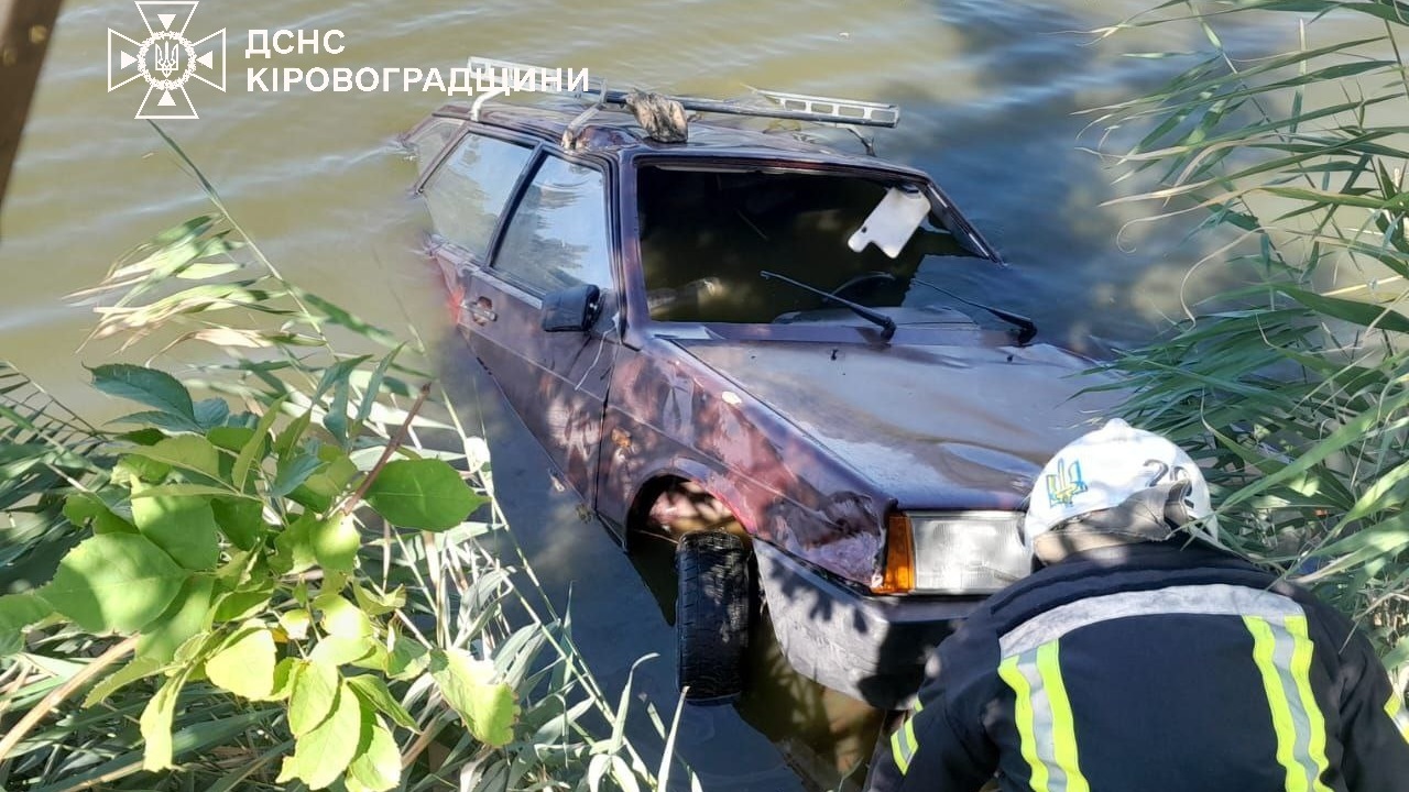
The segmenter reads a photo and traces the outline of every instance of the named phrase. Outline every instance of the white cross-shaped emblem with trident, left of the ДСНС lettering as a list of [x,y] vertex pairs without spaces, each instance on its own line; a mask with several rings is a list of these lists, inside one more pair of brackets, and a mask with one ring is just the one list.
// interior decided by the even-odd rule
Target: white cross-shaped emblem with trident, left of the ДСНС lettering
[[199,0],[137,0],[134,4],[147,37],[138,41],[107,28],[108,93],[142,79],[147,96],[137,106],[137,118],[199,118],[186,83],[196,79],[225,90],[225,28],[192,41],[186,30]]

